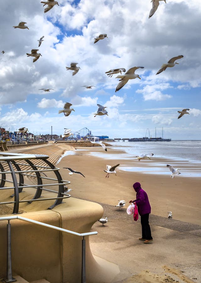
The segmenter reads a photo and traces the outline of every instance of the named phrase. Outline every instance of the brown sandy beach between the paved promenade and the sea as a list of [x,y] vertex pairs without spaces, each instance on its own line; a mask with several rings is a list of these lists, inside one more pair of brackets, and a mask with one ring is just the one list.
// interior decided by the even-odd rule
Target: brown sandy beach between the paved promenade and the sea
[[[129,160],[103,159],[91,155],[91,152],[105,153],[105,158],[107,153],[110,156],[114,155],[114,158],[117,153],[125,153],[113,149],[108,149],[106,153],[101,147],[93,147],[91,149],[78,148],[74,151],[74,154],[63,157],[57,166],[60,168],[62,176],[71,181],[69,188],[73,189],[72,197],[114,206],[118,204],[118,200],[124,199],[127,201],[125,207],[128,207],[129,200],[135,199],[136,195],[133,190],[133,183],[140,182],[149,196],[151,214],[167,217],[167,212],[172,211],[173,219],[197,225],[201,224],[199,177],[182,177],[181,174],[172,179],[169,174],[144,174],[142,172],[125,171],[120,169],[121,164],[127,166]],[[152,157],[151,160],[138,162],[136,158],[132,162],[136,164],[135,166],[143,167],[147,163],[151,165],[155,160],[156,158]],[[169,164],[171,161],[157,158],[157,162]],[[118,163],[120,166],[116,170],[117,176],[110,175],[109,178],[105,178],[106,173],[103,170],[106,169],[106,165],[113,166]],[[188,166],[191,165],[188,164]],[[78,174],[69,175],[69,171],[63,169],[63,167],[80,171],[85,178]]]

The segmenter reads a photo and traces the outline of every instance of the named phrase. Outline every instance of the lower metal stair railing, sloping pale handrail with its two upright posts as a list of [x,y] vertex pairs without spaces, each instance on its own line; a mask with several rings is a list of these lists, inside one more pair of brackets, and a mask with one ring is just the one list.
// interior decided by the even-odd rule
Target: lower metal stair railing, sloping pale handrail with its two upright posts
[[45,227],[48,227],[48,228],[52,228],[52,229],[58,230],[60,232],[64,232],[64,233],[68,233],[68,234],[73,234],[75,236],[83,237],[83,239],[82,239],[81,283],[86,283],[86,273],[85,273],[85,252],[86,252],[86,248],[85,248],[84,237],[90,236],[90,235],[97,235],[98,232],[95,231],[95,232],[88,232],[88,233],[77,233],[77,232],[73,232],[71,230],[63,229],[63,228],[60,228],[60,227],[57,227],[57,226],[53,226],[53,225],[42,223],[42,222],[39,222],[39,221],[36,221],[36,220],[21,217],[19,215],[8,216],[8,217],[0,217],[0,221],[1,220],[8,220],[8,224],[7,224],[7,278],[3,279],[5,282],[16,281],[16,279],[14,279],[12,277],[12,260],[11,260],[11,224],[10,224],[10,220],[13,220],[13,219],[23,220],[23,221],[26,221],[26,222],[34,223],[34,224],[45,226]]

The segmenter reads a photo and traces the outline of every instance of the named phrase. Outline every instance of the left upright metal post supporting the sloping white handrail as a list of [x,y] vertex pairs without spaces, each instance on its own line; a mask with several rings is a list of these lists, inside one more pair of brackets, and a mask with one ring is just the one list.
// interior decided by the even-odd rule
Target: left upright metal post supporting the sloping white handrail
[[7,224],[7,277],[3,279],[5,282],[17,281],[12,277],[12,262],[11,262],[11,224],[8,220]]

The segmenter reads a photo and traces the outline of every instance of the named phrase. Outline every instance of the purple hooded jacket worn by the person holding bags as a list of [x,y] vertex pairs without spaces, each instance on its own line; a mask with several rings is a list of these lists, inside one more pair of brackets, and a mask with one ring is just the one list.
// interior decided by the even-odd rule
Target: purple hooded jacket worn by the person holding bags
[[149,204],[147,193],[141,188],[140,183],[137,182],[133,184],[133,188],[136,191],[136,200],[133,202],[137,204],[139,215],[141,216],[143,214],[151,213],[151,206]]

